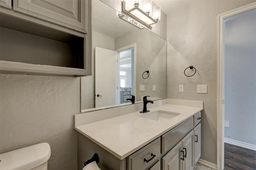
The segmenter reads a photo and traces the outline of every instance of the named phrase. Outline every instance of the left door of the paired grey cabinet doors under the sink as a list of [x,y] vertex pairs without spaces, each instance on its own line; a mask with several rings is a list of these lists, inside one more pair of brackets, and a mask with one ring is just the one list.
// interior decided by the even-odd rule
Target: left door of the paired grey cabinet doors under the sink
[[181,162],[182,141],[178,142],[164,157],[162,157],[162,170],[182,170]]

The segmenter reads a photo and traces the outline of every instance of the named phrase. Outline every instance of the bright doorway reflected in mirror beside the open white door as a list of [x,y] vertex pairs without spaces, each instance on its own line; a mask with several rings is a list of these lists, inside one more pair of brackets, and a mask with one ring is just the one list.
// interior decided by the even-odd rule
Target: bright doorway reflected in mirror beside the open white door
[[135,95],[136,44],[116,50],[118,52],[118,104],[129,103],[126,99]]

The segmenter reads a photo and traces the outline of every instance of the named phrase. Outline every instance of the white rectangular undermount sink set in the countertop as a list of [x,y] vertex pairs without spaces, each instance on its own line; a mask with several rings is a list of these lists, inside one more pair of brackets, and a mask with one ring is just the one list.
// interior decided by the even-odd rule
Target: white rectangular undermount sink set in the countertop
[[153,112],[144,113],[144,115],[141,115],[140,117],[152,119],[155,121],[161,121],[166,119],[172,119],[178,115],[180,115],[180,113],[168,112],[168,111],[153,111]]

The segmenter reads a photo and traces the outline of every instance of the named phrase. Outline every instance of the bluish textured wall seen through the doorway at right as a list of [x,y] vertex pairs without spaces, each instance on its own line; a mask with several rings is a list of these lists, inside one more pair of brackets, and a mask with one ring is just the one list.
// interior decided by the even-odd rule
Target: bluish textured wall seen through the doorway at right
[[225,22],[225,138],[256,145],[256,12]]

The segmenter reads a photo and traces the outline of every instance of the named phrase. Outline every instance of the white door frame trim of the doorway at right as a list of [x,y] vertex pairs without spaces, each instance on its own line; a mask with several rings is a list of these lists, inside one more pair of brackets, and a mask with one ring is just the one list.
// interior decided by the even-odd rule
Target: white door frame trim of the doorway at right
[[256,10],[256,2],[218,15],[217,169],[224,170],[224,20]]

